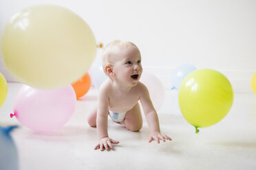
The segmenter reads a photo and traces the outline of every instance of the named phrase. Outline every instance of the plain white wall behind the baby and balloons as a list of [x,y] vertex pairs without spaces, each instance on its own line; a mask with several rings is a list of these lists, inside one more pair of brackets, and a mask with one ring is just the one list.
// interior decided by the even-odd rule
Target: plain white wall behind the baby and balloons
[[[42,3],[76,12],[104,45],[114,39],[136,43],[145,70],[158,75],[165,88],[171,88],[171,71],[189,63],[221,71],[235,92],[251,93],[255,0],[0,0],[0,32],[14,13]],[[0,71],[15,81],[2,60]]]

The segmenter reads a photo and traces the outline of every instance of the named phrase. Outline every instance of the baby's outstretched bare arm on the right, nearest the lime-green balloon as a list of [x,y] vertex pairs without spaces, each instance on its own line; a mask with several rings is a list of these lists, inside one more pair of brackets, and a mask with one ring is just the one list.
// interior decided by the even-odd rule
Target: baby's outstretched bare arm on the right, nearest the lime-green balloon
[[156,141],[160,143],[160,140],[171,141],[171,138],[165,134],[161,134],[160,125],[158,121],[158,114],[156,113],[155,108],[153,107],[152,101],[149,97],[149,90],[144,84],[138,85],[140,88],[140,103],[142,104],[142,108],[145,112],[145,116],[147,119],[147,124],[149,125],[150,138],[149,143],[151,141]]

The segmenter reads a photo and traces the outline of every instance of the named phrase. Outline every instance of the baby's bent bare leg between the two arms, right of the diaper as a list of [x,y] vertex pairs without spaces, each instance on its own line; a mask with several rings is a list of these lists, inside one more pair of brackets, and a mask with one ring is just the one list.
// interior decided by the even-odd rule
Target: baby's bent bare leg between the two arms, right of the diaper
[[132,108],[125,114],[125,120],[123,121],[123,123],[125,124],[127,130],[130,130],[131,132],[137,132],[141,129],[142,116],[138,103],[136,104],[136,106],[134,106],[134,108]]

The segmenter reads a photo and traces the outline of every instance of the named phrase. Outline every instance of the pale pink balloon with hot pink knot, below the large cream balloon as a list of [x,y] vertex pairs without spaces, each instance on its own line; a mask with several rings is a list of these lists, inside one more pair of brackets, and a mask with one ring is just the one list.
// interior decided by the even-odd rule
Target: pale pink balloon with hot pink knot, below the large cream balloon
[[64,125],[76,108],[71,85],[54,90],[23,85],[14,99],[14,115],[32,130],[47,132]]

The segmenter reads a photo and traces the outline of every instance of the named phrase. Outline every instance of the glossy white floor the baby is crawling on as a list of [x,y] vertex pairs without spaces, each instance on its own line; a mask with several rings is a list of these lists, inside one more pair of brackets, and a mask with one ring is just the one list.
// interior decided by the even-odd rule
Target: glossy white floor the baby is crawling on
[[[8,84],[8,98],[0,109],[0,125],[10,119],[21,84]],[[20,125],[12,132],[21,170],[45,169],[256,169],[256,95],[235,94],[233,108],[219,123],[195,134],[178,110],[177,93],[166,92],[158,112],[163,133],[173,141],[148,143],[146,121],[140,132],[129,132],[109,120],[109,136],[120,141],[111,151],[94,150],[96,129],[86,117],[96,102],[92,88],[77,101],[76,112],[56,132],[39,134]]]

